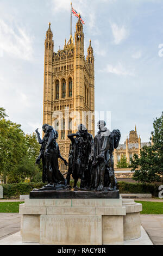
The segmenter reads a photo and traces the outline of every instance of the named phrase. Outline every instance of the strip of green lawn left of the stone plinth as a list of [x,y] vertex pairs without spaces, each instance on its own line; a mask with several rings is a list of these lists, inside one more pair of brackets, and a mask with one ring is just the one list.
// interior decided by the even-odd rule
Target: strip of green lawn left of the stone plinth
[[0,202],[0,212],[18,212],[18,207],[24,202]]

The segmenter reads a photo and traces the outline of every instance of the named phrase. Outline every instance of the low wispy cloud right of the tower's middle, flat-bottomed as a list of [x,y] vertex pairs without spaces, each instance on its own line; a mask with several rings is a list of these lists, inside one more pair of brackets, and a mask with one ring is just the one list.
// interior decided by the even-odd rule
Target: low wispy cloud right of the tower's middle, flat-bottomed
[[134,76],[134,73],[126,70],[120,62],[116,66],[108,64],[106,68],[100,70],[100,72],[111,73],[118,76]]

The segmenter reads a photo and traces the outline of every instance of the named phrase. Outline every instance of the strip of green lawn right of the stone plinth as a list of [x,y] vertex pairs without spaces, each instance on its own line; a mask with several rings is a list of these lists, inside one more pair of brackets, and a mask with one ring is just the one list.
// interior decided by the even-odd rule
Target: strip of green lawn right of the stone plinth
[[163,214],[163,202],[135,201],[142,204],[141,214]]

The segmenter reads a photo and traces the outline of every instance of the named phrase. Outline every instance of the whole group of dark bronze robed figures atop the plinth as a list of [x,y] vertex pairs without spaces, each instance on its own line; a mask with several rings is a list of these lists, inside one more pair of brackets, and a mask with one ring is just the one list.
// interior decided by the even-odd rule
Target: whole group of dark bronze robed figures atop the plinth
[[[58,132],[52,126],[44,124],[42,130],[45,133],[40,138],[38,129],[37,138],[41,144],[40,155],[36,163],[42,160],[42,181],[47,182],[45,190],[70,189],[70,178],[74,179],[74,189],[80,180],[81,190],[110,191],[117,190],[117,180],[114,173],[113,152],[118,147],[121,133],[119,130],[110,132],[105,127],[105,121],[97,123],[99,129],[93,139],[83,124],[78,126],[78,132],[68,135],[70,139],[70,153],[67,161],[60,155],[59,145],[56,142]],[[61,174],[58,159],[68,165],[66,179]]]

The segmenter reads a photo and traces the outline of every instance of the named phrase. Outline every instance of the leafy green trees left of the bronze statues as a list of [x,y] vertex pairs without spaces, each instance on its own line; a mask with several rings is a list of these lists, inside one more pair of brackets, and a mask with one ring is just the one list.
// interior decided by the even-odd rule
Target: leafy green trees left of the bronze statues
[[18,183],[26,179],[41,181],[41,166],[35,166],[39,154],[36,136],[25,135],[21,125],[5,119],[0,108],[0,175],[4,183]]

